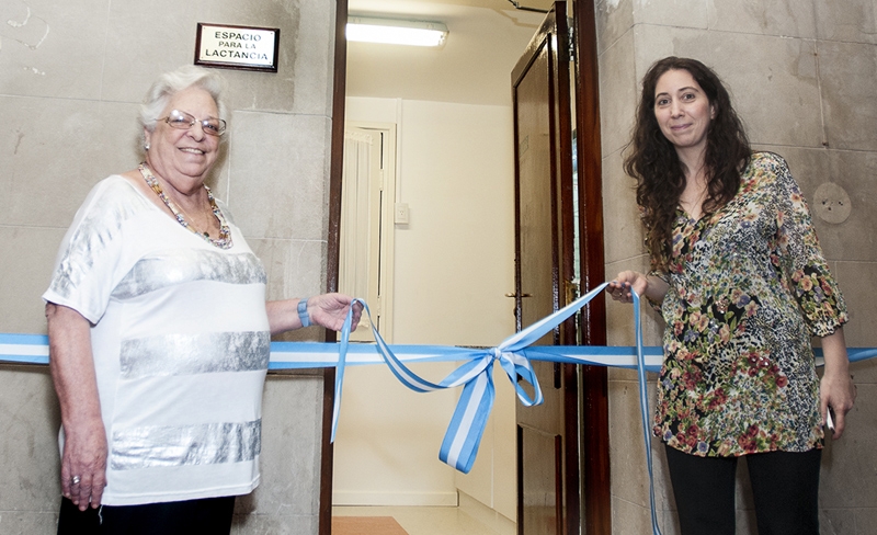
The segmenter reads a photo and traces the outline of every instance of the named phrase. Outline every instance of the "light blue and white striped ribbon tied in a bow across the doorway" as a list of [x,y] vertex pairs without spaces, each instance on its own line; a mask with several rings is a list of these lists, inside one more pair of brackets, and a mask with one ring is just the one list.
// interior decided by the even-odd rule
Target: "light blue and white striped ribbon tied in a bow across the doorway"
[[[348,365],[386,363],[394,375],[408,388],[428,392],[463,386],[463,392],[442,441],[438,457],[454,468],[468,473],[475,463],[487,419],[493,407],[496,388],[493,385],[493,363],[511,380],[521,402],[526,406],[543,401],[538,380],[531,361],[549,361],[570,364],[614,366],[636,368],[639,378],[639,402],[642,423],[642,440],[646,446],[650,481],[649,500],[651,505],[652,532],[660,535],[654,501],[653,470],[651,459],[651,426],[648,407],[646,372],[661,368],[663,351],[661,348],[642,345],[639,296],[634,294],[634,328],[636,346],[593,346],[593,345],[537,345],[542,337],[584,307],[608,283],[603,283],[576,301],[557,312],[540,319],[526,329],[512,334],[496,348],[469,349],[446,345],[390,345],[387,344],[372,322],[375,344],[350,343],[352,312],[348,315],[341,331],[339,344],[317,342],[272,342],[269,369],[293,369],[337,367],[335,396],[333,407],[332,440],[341,408],[344,369]],[[371,316],[365,301],[361,303]],[[817,365],[823,365],[821,350],[815,350]],[[877,356],[877,348],[847,349],[851,362]],[[413,362],[463,362],[463,364],[440,383],[431,383],[414,374],[405,363]],[[0,333],[0,363],[48,364],[48,338],[39,334]],[[519,378],[529,383],[534,395],[531,397],[520,384]]]

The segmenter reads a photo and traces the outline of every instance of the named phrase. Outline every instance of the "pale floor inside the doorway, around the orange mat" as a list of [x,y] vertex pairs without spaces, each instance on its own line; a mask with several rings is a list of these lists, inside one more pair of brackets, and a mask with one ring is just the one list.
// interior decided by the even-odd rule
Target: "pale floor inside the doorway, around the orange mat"
[[408,535],[498,535],[459,508],[335,506],[334,516],[392,516]]

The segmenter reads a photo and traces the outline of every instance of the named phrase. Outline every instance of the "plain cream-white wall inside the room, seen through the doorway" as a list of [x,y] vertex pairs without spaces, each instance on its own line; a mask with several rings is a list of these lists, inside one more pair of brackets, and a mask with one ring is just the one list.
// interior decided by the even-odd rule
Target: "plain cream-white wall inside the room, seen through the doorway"
[[[514,332],[512,111],[348,98],[346,119],[398,125],[394,343],[496,345]],[[449,364],[417,368],[438,380]],[[499,371],[498,371],[499,372]],[[335,504],[456,504],[456,490],[515,517],[514,397],[504,374],[472,471],[437,459],[458,392],[414,394],[378,366],[348,372]],[[456,474],[456,475],[455,475]]]

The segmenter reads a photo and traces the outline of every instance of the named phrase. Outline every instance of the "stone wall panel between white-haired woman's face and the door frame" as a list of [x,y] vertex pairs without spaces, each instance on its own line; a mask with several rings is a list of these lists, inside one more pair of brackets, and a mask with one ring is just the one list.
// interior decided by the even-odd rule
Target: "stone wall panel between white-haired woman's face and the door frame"
[[239,112],[227,202],[247,236],[326,236],[327,117]]

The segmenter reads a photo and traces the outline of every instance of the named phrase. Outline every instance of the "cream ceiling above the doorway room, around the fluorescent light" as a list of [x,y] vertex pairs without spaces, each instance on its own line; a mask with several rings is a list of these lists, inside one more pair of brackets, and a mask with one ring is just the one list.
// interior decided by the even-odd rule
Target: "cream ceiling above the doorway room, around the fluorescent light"
[[[549,0],[517,0],[548,10]],[[349,0],[349,13],[444,23],[441,48],[348,44],[349,96],[510,105],[511,71],[544,13],[509,0]]]

